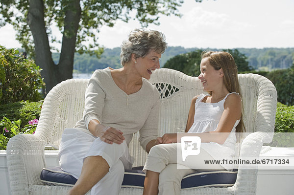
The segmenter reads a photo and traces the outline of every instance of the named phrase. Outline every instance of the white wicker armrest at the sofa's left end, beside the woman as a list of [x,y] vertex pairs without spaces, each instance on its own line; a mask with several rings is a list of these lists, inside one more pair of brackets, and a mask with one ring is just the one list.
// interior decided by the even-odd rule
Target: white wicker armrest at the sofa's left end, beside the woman
[[29,184],[41,184],[45,142],[36,135],[19,134],[7,144],[7,166],[12,194],[27,194]]

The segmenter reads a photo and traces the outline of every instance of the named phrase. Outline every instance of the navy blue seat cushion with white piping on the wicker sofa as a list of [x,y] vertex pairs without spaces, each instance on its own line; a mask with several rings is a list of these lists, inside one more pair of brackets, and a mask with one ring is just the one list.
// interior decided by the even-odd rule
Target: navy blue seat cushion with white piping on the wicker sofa
[[[145,173],[142,169],[143,167],[134,167],[125,170],[122,187],[143,188]],[[192,173],[183,178],[181,188],[232,186],[236,182],[237,173],[237,170]],[[44,168],[40,178],[46,185],[73,186],[77,181],[73,175],[63,172],[60,167]]]

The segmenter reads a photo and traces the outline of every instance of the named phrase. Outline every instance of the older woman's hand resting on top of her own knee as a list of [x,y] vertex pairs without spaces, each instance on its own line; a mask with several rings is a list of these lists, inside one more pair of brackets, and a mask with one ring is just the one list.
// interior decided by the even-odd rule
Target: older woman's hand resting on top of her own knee
[[[104,127],[104,126],[103,126]],[[123,132],[121,130],[112,128],[112,127],[98,127],[98,137],[108,144],[121,144],[123,143],[124,137]]]

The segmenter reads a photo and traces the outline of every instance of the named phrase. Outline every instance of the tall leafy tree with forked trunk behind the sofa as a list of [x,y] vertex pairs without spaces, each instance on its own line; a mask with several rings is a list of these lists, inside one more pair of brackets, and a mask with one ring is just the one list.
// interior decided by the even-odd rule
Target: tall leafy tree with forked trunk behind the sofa
[[[180,16],[177,8],[182,3],[183,0],[1,0],[0,26],[13,25],[16,39],[43,69],[48,92],[57,83],[73,77],[75,51],[97,56],[103,52],[96,34],[102,25],[113,26],[116,20],[128,22],[131,11],[136,12],[135,18],[143,27],[158,24],[160,14]],[[63,35],[56,64],[49,45],[57,41],[51,33],[55,24]]]

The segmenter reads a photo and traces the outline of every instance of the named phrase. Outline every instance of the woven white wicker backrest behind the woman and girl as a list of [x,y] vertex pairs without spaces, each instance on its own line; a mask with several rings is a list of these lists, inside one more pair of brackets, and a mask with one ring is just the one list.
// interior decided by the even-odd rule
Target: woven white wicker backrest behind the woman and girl
[[[267,106],[272,106],[269,99],[276,99],[275,88],[271,82],[256,74],[239,74],[238,77],[247,132],[255,132],[260,126],[272,124],[271,118],[265,118],[261,114]],[[162,136],[168,132],[183,132],[192,98],[204,92],[200,80],[176,70],[161,68],[153,72],[149,81],[158,88],[161,95],[158,134]],[[36,134],[56,149],[63,130],[73,128],[82,118],[87,83],[87,79],[64,81],[53,87],[44,100]],[[272,128],[269,128],[269,132],[272,132]],[[144,165],[147,156],[138,138],[139,133],[134,133],[129,145],[130,154],[136,156],[133,166]]]

